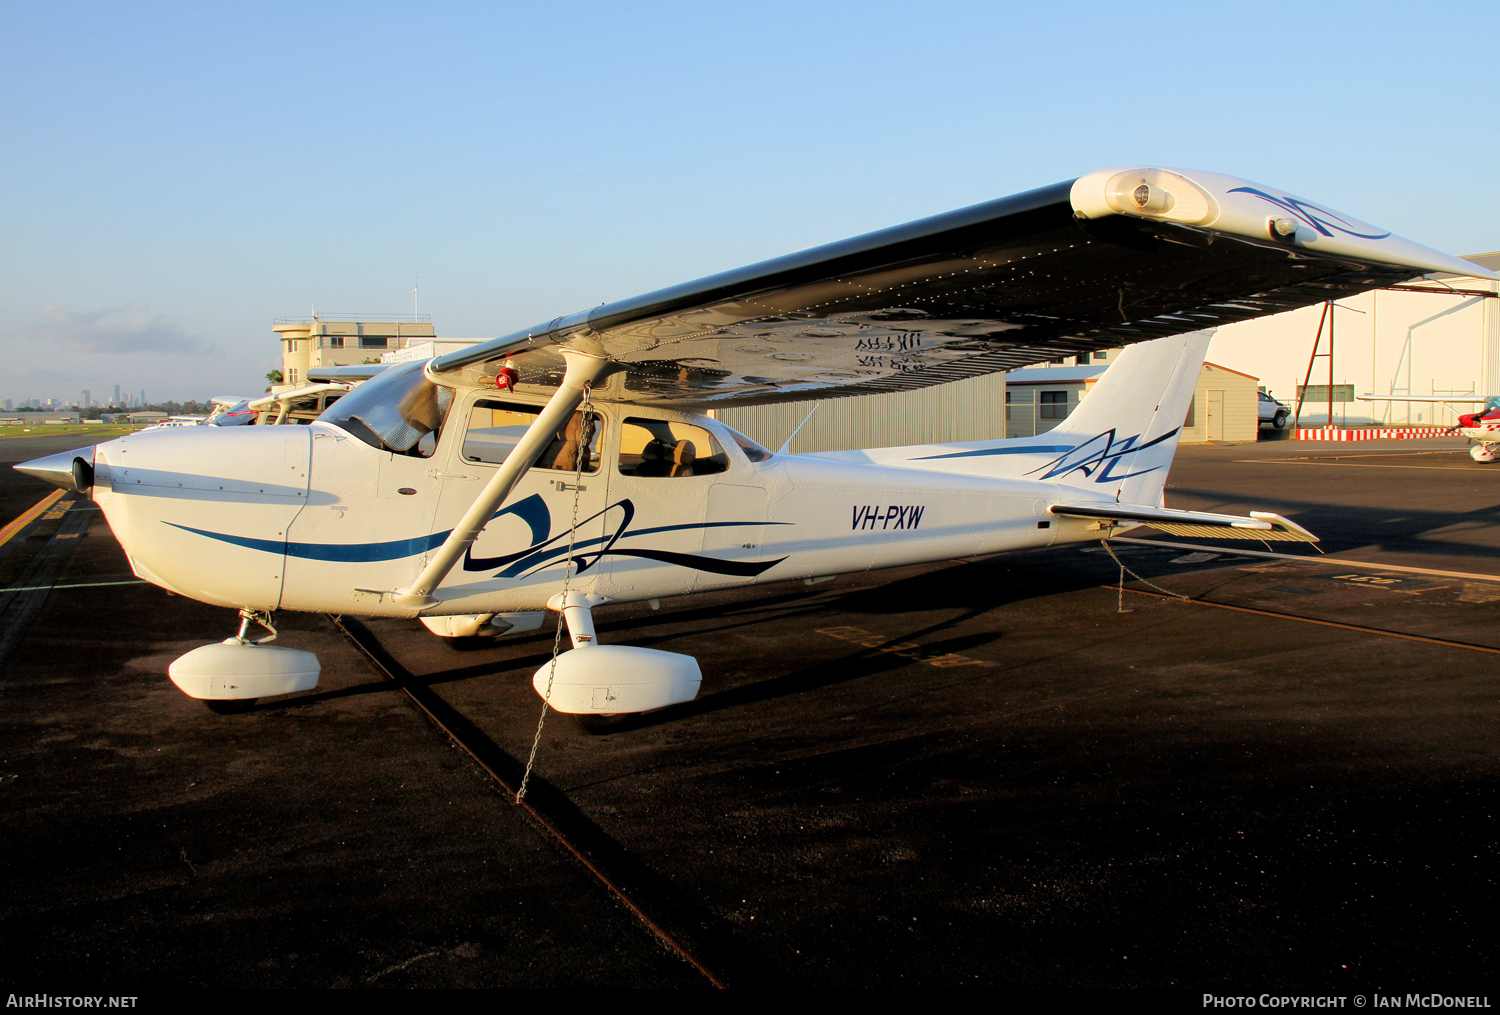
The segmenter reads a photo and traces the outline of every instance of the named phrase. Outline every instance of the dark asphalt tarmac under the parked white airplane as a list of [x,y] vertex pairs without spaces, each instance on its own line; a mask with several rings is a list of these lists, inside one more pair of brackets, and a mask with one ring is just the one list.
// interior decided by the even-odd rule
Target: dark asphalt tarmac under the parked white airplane
[[[1168,505],[1281,511],[1335,559],[1114,541],[1150,585],[1076,546],[603,607],[603,642],[696,655],[702,694],[606,735],[554,714],[532,799],[729,985],[1468,993],[1500,901],[1500,468],[1464,447],[1179,450]],[[46,492],[3,472],[6,519]],[[0,660],[16,991],[708,985],[327,618],[280,616],[316,691],[182,696],[166,664],[232,615],[100,585],[129,567],[64,499],[0,547],[0,639],[36,597]],[[351,631],[516,774],[550,627]]]

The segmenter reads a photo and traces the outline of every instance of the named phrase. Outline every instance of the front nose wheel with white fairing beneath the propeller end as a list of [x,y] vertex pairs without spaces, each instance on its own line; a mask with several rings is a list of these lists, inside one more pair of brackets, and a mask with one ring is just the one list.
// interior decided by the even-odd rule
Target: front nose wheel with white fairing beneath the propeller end
[[[268,634],[250,640],[250,622]],[[318,657],[302,649],[270,645],[276,625],[267,610],[240,610],[240,633],[216,645],[201,645],[168,667],[172,684],[214,712],[243,712],[256,699],[310,691],[322,667]]]

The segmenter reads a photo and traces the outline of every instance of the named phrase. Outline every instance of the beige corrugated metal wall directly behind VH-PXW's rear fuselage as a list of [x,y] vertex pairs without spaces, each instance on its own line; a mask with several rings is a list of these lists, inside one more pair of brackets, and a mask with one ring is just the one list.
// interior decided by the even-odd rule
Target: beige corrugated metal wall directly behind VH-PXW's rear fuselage
[[[814,402],[782,402],[720,409],[718,418],[772,451],[782,447]],[[861,394],[819,405],[792,441],[792,453],[951,444],[1005,436],[1005,375],[938,384],[916,391]]]

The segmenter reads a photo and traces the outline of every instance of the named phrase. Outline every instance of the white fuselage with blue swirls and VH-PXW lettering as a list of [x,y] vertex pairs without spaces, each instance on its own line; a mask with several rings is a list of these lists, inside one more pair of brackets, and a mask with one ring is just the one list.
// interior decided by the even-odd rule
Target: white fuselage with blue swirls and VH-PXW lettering
[[[500,420],[483,408],[494,405],[494,391],[460,393],[426,457],[327,423],[134,435],[99,445],[93,496],[136,573],[170,591],[252,610],[416,616],[393,594],[502,457],[486,448],[506,427],[476,426]],[[628,601],[1100,537],[1096,523],[1047,513],[1064,493],[1052,483],[766,454],[702,415],[591,411],[582,474],[576,460],[530,469],[422,616],[542,610],[570,543],[568,586]],[[642,460],[651,433],[676,435],[696,460]]]

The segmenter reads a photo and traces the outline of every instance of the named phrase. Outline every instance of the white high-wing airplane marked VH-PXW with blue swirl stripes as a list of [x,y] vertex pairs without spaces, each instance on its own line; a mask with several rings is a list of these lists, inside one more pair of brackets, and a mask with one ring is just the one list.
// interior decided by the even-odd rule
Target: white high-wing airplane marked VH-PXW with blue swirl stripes
[[[1476,265],[1274,187],[1116,168],[378,370],[309,426],[140,433],[16,466],[92,492],[135,573],[237,609],[171,667],[219,708],[310,688],[273,610],[454,637],[564,615],[556,709],[698,694],[592,607],[1107,537],[1312,540],[1162,507],[1204,330]],[[1500,277],[1500,276],[1496,276]],[[716,406],[902,391],[1130,345],[1035,438],[772,454]],[[360,372],[328,369],[327,382]],[[994,406],[1000,412],[1000,406]],[[248,637],[250,622],[272,634]]]

